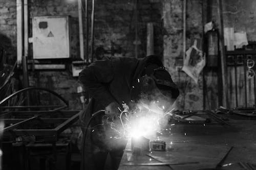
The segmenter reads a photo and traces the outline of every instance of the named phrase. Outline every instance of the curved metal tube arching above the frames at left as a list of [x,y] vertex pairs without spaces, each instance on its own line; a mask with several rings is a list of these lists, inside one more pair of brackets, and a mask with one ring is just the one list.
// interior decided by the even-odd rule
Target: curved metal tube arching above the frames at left
[[68,101],[66,101],[64,98],[62,98],[62,96],[60,96],[58,93],[56,93],[53,90],[49,90],[47,88],[41,88],[41,87],[28,87],[28,88],[24,88],[21,90],[16,91],[15,93],[12,93],[11,95],[7,96],[5,99],[3,99],[2,101],[0,101],[0,106],[5,103],[6,101],[8,101],[9,99],[13,98],[14,96],[16,96],[19,93],[22,93],[24,91],[29,91],[29,90],[42,90],[42,91],[48,91],[49,93],[54,94],[55,96],[57,96],[58,99],[60,99],[62,102],[64,102],[66,104],[66,106],[69,106]]

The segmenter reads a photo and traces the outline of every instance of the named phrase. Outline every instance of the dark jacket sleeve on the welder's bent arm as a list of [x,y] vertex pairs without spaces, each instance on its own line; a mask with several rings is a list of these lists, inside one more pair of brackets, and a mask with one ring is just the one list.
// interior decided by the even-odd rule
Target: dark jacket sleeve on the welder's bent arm
[[111,60],[96,61],[84,68],[79,74],[79,81],[102,108],[115,102],[108,88],[113,78]]

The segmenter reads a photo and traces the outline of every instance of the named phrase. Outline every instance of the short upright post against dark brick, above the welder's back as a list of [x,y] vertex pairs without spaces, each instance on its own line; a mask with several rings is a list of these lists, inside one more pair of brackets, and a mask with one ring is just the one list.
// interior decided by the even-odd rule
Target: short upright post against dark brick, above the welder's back
[[154,25],[147,23],[146,32],[146,56],[154,55]]

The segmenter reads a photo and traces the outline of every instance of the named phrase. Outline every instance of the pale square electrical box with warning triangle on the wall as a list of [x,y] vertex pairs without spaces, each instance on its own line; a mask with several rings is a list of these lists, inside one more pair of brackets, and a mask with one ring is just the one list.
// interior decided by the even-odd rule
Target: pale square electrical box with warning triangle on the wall
[[70,57],[69,16],[34,16],[32,30],[34,59]]

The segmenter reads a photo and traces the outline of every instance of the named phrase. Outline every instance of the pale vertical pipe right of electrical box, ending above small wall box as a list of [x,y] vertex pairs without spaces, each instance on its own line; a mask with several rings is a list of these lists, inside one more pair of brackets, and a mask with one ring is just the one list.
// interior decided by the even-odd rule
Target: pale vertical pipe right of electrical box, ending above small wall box
[[79,43],[80,43],[80,58],[84,60],[83,51],[83,28],[82,28],[82,2],[78,0],[78,18],[79,18]]

